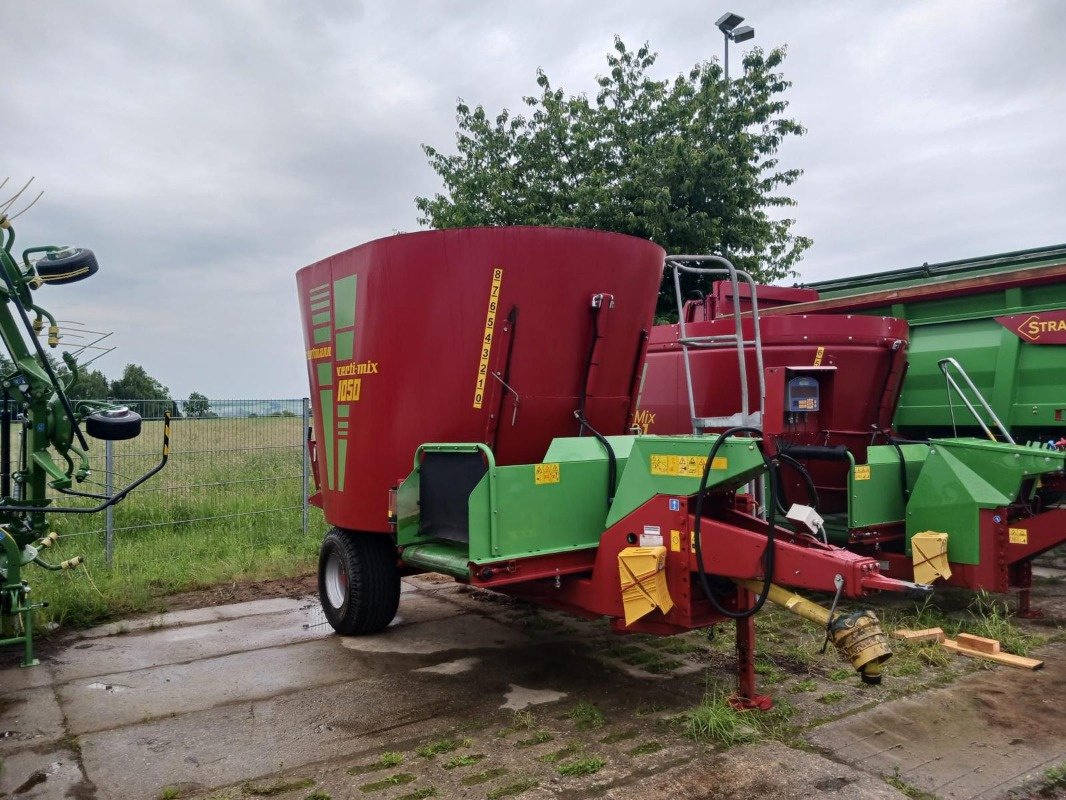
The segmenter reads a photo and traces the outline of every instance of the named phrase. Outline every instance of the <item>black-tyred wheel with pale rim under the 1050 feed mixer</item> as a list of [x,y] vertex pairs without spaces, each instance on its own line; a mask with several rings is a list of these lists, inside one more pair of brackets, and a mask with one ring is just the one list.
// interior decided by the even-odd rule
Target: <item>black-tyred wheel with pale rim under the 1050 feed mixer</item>
[[319,550],[319,599],[342,636],[376,634],[400,605],[397,548],[384,533],[334,528]]

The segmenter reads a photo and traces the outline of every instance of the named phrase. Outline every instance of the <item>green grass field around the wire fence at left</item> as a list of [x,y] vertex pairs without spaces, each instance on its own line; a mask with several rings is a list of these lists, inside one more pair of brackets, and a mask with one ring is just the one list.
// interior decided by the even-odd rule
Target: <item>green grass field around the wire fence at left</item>
[[[61,539],[48,560],[81,555],[86,567],[27,569],[33,596],[49,603],[42,620],[85,626],[159,610],[175,592],[313,571],[324,523],[312,508],[303,531],[303,435],[298,416],[174,420],[166,467],[114,509],[111,567],[102,513],[50,517]],[[102,483],[103,443],[93,445],[91,480]],[[155,465],[161,450],[158,421],[145,422],[139,438],[115,443],[115,486]]]

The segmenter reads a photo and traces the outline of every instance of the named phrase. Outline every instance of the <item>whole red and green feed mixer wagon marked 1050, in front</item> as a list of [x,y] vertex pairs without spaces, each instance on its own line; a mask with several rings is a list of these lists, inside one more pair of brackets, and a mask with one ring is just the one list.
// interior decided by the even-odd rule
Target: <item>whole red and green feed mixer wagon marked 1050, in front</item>
[[300,270],[311,500],[334,526],[319,593],[338,633],[387,627],[401,570],[618,631],[736,620],[740,702],[764,705],[753,614],[769,596],[879,678],[890,653],[873,614],[777,583],[838,598],[924,589],[777,525],[773,502],[760,515],[753,487],[772,465],[755,426],[637,432],[663,263],[632,237],[505,227],[394,236]]

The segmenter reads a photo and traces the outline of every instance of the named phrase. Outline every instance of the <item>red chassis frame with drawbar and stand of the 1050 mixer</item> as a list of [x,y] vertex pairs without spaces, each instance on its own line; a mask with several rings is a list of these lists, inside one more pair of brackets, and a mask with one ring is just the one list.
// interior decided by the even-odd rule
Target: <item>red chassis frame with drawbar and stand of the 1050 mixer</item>
[[[697,574],[692,513],[694,497],[657,495],[611,526],[595,549],[542,556],[494,564],[471,564],[472,586],[494,589],[538,605],[586,618],[607,617],[616,633],[668,636],[705,628],[730,618],[716,612],[705,596]],[[676,507],[676,510],[672,510]],[[663,531],[666,585],[674,608],[652,611],[625,624],[618,579],[618,554],[639,541],[645,526]],[[881,573],[877,560],[826,545],[806,534],[775,528],[774,581],[782,586],[834,592],[837,576],[842,596],[861,597],[873,591],[911,592],[914,583]],[[720,604],[729,610],[749,609],[754,596],[720,579],[763,579],[766,523],[752,514],[743,495],[711,495],[705,502],[700,549],[709,577],[722,583]],[[770,700],[755,686],[755,623],[737,621],[738,697],[744,707],[769,708]]]

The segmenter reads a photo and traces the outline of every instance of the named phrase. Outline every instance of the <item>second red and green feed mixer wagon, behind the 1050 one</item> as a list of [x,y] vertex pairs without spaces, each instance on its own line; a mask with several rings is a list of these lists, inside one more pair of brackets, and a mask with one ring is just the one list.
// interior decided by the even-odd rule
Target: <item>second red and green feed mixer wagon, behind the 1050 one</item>
[[[683,258],[671,266],[678,275],[702,269]],[[717,281],[683,303],[678,324],[651,332],[642,431],[754,422],[774,455],[780,513],[797,508],[790,524],[814,519],[825,541],[876,558],[894,577],[1019,589],[1019,612],[1029,613],[1033,558],[1066,541],[1066,442],[1016,444],[947,351],[936,356],[943,416],[954,406],[953,418],[986,435],[900,437],[892,423],[908,380],[907,323],[817,301],[811,289],[748,278]],[[957,335],[947,327],[946,341]],[[926,395],[932,338],[926,331]]]

